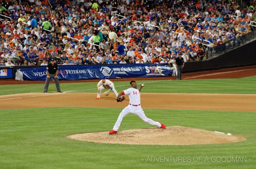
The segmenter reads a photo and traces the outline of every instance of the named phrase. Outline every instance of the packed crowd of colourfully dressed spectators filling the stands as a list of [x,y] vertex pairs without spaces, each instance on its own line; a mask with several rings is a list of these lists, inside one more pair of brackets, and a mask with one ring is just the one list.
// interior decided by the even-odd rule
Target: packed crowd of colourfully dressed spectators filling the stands
[[5,0],[0,66],[47,65],[55,58],[64,65],[173,67],[179,54],[185,62],[203,60],[206,45],[251,31],[256,0],[248,3],[240,9],[233,0]]

